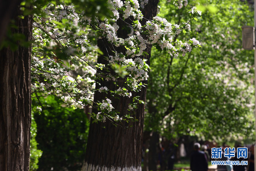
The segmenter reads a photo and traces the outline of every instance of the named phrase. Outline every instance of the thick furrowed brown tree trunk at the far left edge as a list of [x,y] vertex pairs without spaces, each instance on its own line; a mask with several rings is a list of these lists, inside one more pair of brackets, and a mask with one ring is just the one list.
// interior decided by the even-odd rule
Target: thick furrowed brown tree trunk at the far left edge
[[[19,8],[16,9],[19,11]],[[32,17],[15,18],[13,33],[32,40]],[[31,125],[31,47],[0,51],[0,170],[29,170]]]

